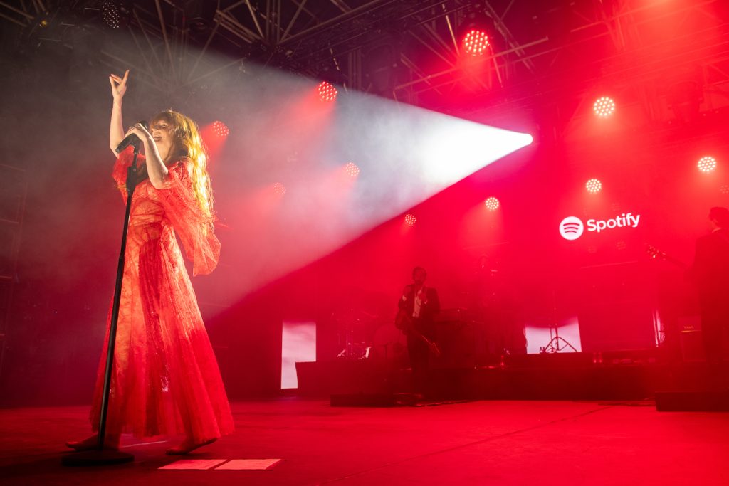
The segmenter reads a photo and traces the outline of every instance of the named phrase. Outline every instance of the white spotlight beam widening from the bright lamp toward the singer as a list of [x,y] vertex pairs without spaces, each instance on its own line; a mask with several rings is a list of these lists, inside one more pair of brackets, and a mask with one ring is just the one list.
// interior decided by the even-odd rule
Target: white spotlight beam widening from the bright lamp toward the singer
[[[270,86],[260,91],[268,94],[257,103],[280,106],[281,93]],[[251,180],[285,181],[287,189],[261,227],[252,227],[242,216],[255,210],[230,210],[230,227],[240,228],[231,235],[234,247],[227,248],[231,265],[241,269],[234,275],[238,282],[227,286],[237,292],[236,298],[320,259],[531,144],[525,133],[359,93],[340,97],[329,115],[323,124],[292,119],[276,136],[265,122],[260,128],[249,125],[245,138],[237,144],[233,140],[237,147],[228,147],[238,160],[248,161],[226,178],[227,184],[237,181],[236,194]],[[320,128],[312,131],[313,126]],[[277,162],[285,151],[296,152],[296,161]],[[356,180],[335,177],[346,162],[361,169]],[[229,169],[235,170],[236,162],[230,163]]]

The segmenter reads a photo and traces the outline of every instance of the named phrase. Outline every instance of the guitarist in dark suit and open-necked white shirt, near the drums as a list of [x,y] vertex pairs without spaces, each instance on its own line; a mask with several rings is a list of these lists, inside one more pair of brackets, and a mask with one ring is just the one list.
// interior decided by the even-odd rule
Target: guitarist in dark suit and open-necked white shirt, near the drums
[[397,323],[408,339],[408,355],[410,355],[410,367],[413,368],[413,389],[416,396],[422,396],[426,390],[429,378],[428,361],[432,348],[427,344],[427,340],[432,341],[434,338],[433,319],[440,312],[437,291],[425,286],[427,275],[423,267],[415,267],[413,283],[405,286],[402,297],[397,302],[399,308]]

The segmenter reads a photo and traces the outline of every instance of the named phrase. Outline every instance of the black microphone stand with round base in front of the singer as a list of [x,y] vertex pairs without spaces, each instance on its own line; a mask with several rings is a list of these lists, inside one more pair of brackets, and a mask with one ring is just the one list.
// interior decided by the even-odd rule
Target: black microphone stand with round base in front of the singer
[[117,340],[117,321],[119,320],[119,305],[122,299],[122,280],[124,278],[124,262],[127,249],[127,230],[129,229],[129,213],[132,208],[132,195],[137,184],[137,156],[141,141],[133,142],[134,158],[132,165],[127,169],[127,208],[124,215],[124,230],[122,231],[122,251],[119,254],[117,266],[117,283],[114,287],[114,303],[112,304],[112,321],[109,323],[109,345],[106,350],[106,371],[104,372],[104,388],[101,391],[101,418],[98,424],[98,443],[95,450],[76,452],[64,455],[61,459],[63,466],[104,466],[106,464],[128,463],[134,456],[128,452],[104,449],[106,436],[106,415],[109,413],[109,390],[112,386],[112,368],[114,366],[114,345]]

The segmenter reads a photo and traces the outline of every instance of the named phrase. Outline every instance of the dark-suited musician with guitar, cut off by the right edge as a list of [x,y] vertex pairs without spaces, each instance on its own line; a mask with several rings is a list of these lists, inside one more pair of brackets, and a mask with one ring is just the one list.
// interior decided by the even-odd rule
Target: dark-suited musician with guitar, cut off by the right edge
[[712,366],[722,359],[722,334],[729,335],[729,210],[711,208],[711,232],[696,240],[689,275],[698,289],[701,334],[706,361]]

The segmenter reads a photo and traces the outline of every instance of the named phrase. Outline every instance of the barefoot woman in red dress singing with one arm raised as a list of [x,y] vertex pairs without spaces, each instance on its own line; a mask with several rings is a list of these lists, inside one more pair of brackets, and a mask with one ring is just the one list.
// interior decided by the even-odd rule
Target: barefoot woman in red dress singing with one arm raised
[[[137,162],[140,182],[129,217],[104,442],[118,448],[122,433],[184,434],[182,443],[167,453],[185,454],[232,432],[233,418],[175,234],[192,259],[194,275],[214,270],[220,243],[213,232],[206,154],[195,122],[176,111],[163,111],[152,119],[149,130],[137,124],[125,134],[122,98],[128,75],[129,71],[123,78],[109,77],[114,97],[109,147],[113,152],[126,135],[135,133],[144,156],[140,154]],[[132,160],[129,147],[117,158],[112,174],[125,200]],[[107,345],[90,416],[96,432]],[[68,445],[89,450],[96,441],[94,435]]]

